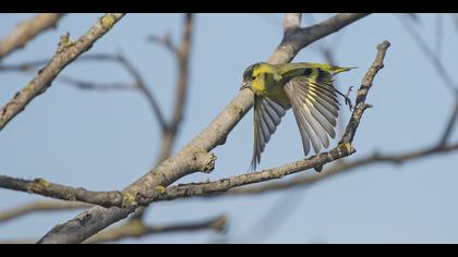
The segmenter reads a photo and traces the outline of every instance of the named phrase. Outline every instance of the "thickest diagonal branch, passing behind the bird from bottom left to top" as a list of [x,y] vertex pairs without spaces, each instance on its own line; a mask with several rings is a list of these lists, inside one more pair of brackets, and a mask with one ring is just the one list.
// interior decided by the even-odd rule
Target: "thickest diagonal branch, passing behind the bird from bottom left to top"
[[[333,34],[363,16],[365,14],[338,14],[321,24],[304,28],[308,32],[306,36],[290,36],[288,40],[284,39],[269,61],[273,63],[288,62],[292,60],[302,47]],[[302,47],[289,47],[289,45]],[[284,48],[290,50],[285,50]],[[202,170],[213,170],[216,158],[207,154],[207,151],[224,144],[227,135],[252,105],[252,93],[250,90],[241,90],[229,106],[183,149],[128,186],[125,191],[136,194],[145,189],[164,188],[184,175]],[[193,162],[198,156],[207,160],[206,164],[202,162],[201,166],[196,166]],[[118,207],[105,209],[97,206],[61,225],[55,227],[38,243],[81,243],[106,227],[124,219],[129,213],[131,213],[129,209]]]

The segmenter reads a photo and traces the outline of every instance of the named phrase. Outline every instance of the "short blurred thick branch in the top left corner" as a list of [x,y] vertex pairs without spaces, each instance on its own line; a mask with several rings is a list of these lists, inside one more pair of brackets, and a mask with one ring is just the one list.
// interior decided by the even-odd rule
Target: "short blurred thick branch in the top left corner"
[[11,52],[23,48],[38,34],[56,27],[62,15],[61,13],[40,13],[19,24],[14,30],[0,41],[0,61]]

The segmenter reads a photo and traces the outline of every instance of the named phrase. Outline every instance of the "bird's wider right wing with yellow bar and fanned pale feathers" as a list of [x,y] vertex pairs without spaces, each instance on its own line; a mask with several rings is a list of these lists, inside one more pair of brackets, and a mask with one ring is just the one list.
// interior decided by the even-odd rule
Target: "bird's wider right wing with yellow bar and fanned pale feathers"
[[329,146],[328,136],[334,138],[339,103],[333,86],[332,73],[317,69],[316,76],[298,76],[285,84],[296,121],[301,132],[304,154],[312,143],[315,152],[321,145]]

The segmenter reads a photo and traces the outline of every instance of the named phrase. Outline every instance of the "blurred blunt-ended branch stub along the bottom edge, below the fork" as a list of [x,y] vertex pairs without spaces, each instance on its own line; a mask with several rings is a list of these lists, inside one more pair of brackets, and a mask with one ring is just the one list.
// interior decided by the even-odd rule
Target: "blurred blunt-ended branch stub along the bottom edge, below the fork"
[[138,238],[153,234],[176,233],[176,232],[201,232],[204,230],[213,230],[215,232],[225,231],[227,225],[226,216],[218,216],[213,219],[200,222],[186,222],[181,224],[171,225],[146,225],[141,220],[129,220],[124,224],[103,231],[89,240],[85,241],[86,244],[99,244],[105,242],[113,242],[125,238]]

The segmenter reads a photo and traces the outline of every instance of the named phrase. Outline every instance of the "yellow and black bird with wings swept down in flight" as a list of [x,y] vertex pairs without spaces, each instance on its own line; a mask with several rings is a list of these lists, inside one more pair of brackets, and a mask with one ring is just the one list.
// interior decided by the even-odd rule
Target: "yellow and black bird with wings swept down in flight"
[[[290,108],[301,134],[304,156],[311,147],[315,154],[322,146],[327,148],[328,137],[336,136],[334,128],[340,106],[337,95],[346,99],[351,110],[348,94],[334,87],[333,76],[352,69],[311,62],[258,62],[248,66],[240,90],[249,88],[254,95],[254,144],[249,171],[256,170],[261,154]],[[321,169],[315,167],[317,172]]]

